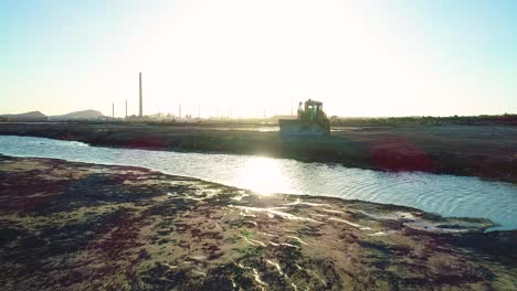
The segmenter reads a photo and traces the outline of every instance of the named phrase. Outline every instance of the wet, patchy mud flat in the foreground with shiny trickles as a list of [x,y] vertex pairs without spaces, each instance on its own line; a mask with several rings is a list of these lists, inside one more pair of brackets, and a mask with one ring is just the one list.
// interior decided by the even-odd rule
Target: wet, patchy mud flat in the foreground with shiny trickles
[[516,290],[485,219],[0,157],[1,290]]

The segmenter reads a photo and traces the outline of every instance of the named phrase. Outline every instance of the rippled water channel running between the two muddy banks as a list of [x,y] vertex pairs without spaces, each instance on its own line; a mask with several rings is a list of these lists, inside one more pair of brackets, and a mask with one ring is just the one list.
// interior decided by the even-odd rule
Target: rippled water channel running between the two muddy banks
[[0,153],[144,166],[263,194],[295,193],[398,204],[443,216],[489,218],[500,225],[493,229],[517,228],[517,185],[477,177],[383,173],[252,155],[98,148],[31,137],[0,136]]

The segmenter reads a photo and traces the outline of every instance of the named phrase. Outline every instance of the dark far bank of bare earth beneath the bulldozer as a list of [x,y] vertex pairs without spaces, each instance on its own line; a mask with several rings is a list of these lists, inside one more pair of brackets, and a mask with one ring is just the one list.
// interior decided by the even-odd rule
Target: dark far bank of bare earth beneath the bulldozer
[[517,183],[517,127],[338,128],[329,138],[285,138],[250,125],[1,123],[0,134],[92,146],[261,154],[378,171],[423,171]]

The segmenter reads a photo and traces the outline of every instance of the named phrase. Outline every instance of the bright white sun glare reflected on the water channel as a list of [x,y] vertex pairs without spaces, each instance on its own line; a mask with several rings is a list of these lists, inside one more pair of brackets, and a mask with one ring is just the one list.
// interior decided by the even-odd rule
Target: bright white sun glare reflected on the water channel
[[236,182],[263,195],[289,190],[289,179],[282,162],[265,157],[250,157],[236,176]]

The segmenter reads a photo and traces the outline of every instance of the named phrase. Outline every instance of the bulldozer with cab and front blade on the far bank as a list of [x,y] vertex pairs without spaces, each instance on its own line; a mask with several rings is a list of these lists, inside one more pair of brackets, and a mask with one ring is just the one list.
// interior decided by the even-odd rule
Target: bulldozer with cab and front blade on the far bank
[[330,133],[330,121],[323,110],[323,103],[310,99],[299,103],[297,119],[279,119],[278,123],[281,133],[287,136]]

